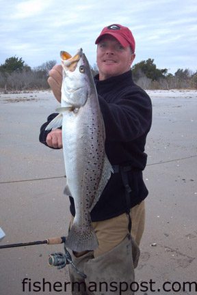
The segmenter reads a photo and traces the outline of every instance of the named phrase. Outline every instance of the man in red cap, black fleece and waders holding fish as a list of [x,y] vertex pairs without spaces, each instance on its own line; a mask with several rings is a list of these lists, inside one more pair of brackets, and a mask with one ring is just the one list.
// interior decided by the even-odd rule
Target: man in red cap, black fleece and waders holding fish
[[[84,280],[70,268],[70,280],[83,283],[83,288],[78,290],[78,285],[73,294],[134,294],[132,282],[144,231],[144,199],[148,195],[142,171],[146,167],[144,146],[152,106],[146,92],[132,80],[135,40],[129,28],[109,25],[95,44],[99,74],[94,81],[105,123],[105,151],[114,173],[90,213],[98,249],[72,253],[73,262],[87,278]],[[58,101],[61,83],[62,68],[55,66],[49,72],[49,85]],[[40,141],[51,148],[62,148],[62,131],[45,131],[55,115],[42,125]],[[70,212],[75,216],[72,197]]]

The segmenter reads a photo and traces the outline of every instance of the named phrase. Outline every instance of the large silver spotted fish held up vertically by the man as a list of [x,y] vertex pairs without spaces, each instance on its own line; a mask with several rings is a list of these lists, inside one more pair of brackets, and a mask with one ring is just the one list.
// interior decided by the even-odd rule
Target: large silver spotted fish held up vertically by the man
[[99,245],[90,212],[101,197],[113,169],[105,153],[105,124],[86,55],[60,52],[62,96],[60,113],[46,130],[62,126],[66,195],[73,197],[75,217],[66,247],[81,252]]

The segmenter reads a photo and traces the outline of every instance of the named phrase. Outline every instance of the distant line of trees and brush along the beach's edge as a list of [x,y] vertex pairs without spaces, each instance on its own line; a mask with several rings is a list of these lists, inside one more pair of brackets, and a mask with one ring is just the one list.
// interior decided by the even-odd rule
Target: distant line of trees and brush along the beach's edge
[[[0,89],[6,92],[20,92],[35,89],[49,89],[47,78],[49,70],[56,61],[47,61],[41,66],[31,68],[22,57],[10,57],[0,66]],[[94,64],[92,74],[98,73]],[[174,74],[168,69],[158,69],[154,59],[140,61],[132,67],[133,80],[143,89],[197,89],[197,72],[179,68]]]

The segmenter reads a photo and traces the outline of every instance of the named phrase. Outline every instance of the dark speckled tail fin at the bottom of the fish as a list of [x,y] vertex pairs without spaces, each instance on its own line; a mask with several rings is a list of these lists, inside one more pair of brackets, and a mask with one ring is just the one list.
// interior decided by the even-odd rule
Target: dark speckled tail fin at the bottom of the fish
[[81,229],[77,223],[73,223],[66,238],[66,247],[69,249],[82,252],[92,251],[99,246],[93,227]]

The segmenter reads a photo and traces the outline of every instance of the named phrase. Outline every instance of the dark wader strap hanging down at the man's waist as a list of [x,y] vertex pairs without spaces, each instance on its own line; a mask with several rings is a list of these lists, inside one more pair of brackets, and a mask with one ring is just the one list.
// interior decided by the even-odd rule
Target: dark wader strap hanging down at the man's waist
[[[131,170],[131,169],[130,169]],[[129,171],[129,170],[127,170]],[[131,187],[129,186],[129,178],[127,171],[125,171],[124,167],[120,167],[120,174],[122,176],[122,182],[124,184],[124,190],[125,190],[125,200],[126,200],[126,213],[129,219],[129,234],[131,234],[131,215],[130,215],[130,210],[131,210],[131,199],[130,199],[130,193],[131,193]]]

